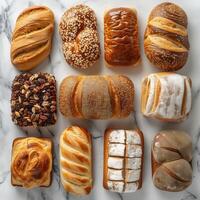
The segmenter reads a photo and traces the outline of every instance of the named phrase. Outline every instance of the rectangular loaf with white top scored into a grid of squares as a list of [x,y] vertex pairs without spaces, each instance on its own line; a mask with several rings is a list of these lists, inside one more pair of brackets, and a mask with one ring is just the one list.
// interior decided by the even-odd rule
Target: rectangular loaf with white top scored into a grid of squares
[[104,135],[104,188],[120,193],[140,189],[143,158],[144,138],[139,129],[107,129]]

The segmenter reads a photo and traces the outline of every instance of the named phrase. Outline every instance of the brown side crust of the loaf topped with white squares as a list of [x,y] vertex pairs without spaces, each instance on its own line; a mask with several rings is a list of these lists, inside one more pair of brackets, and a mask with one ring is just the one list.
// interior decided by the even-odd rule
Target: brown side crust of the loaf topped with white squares
[[[108,128],[105,130],[105,134],[104,134],[104,166],[103,166],[103,187],[106,190],[109,190],[108,187],[108,157],[109,157],[109,150],[108,150],[108,146],[109,146],[109,136],[110,134],[115,131],[117,129],[112,129],[112,128]],[[135,130],[123,130],[123,131],[136,131],[140,137],[141,140],[141,148],[142,148],[142,155],[141,155],[141,168],[140,168],[140,178],[138,180],[139,184],[137,187],[137,190],[142,188],[142,182],[143,182],[143,165],[144,165],[144,136],[143,133],[141,132],[141,130],[139,130],[138,128]]]

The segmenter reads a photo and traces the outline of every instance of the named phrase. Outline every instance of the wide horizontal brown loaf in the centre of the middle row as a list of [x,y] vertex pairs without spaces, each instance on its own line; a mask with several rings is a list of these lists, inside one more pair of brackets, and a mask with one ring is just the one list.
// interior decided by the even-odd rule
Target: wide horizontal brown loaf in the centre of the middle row
[[124,118],[133,110],[134,85],[126,76],[68,76],[60,86],[66,117]]

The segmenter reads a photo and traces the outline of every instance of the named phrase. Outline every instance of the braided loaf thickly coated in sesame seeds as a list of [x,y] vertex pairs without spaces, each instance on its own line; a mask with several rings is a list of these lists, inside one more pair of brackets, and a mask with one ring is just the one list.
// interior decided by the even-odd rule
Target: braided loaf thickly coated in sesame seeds
[[86,5],[76,5],[63,14],[59,32],[63,42],[63,54],[73,67],[88,68],[100,56],[97,19]]

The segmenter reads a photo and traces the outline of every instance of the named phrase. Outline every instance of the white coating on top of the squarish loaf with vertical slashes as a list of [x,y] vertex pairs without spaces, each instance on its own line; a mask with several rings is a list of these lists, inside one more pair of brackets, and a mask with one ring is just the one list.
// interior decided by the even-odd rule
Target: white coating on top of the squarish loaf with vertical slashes
[[[191,109],[191,87],[186,76],[175,73],[162,76],[151,74],[148,79],[150,80],[150,89],[144,112],[146,116],[161,117],[164,119],[183,118],[184,116],[182,116],[181,111],[185,90],[188,94],[186,97],[186,113],[189,113]],[[160,82],[161,91],[159,94],[158,105],[155,111],[152,112],[156,80],[159,80]]]

